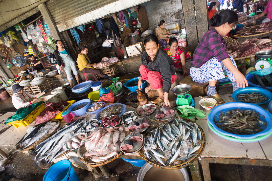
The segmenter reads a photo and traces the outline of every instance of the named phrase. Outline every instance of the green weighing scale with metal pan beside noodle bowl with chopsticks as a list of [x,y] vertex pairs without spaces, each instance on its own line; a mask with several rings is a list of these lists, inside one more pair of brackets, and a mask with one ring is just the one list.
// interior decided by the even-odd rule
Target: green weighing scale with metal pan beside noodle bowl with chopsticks
[[190,91],[191,91],[191,85],[188,84],[180,84],[176,85],[175,87],[172,88],[172,93],[174,93],[177,96],[176,99],[176,104],[177,106],[181,105],[194,105],[194,100],[191,96]]

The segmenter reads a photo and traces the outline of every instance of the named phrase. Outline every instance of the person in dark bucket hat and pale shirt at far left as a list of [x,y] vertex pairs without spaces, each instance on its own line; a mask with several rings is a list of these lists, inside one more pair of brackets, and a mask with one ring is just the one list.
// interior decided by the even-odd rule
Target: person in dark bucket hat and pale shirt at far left
[[[33,104],[35,101],[37,101],[37,98],[39,96],[38,94],[32,94],[24,91],[24,87],[19,84],[14,84],[11,88],[13,90],[12,93],[14,93],[12,95],[12,103],[16,109],[24,108],[28,105]],[[30,101],[31,98],[34,99]]]

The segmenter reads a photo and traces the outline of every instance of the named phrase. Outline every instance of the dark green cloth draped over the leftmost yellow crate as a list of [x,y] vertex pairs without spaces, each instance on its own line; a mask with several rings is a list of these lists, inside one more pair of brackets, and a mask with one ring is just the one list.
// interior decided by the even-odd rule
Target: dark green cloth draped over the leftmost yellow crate
[[13,116],[10,116],[7,119],[6,123],[24,119],[27,115],[29,115],[29,113],[34,111],[34,109],[38,108],[38,106],[41,104],[44,104],[44,102],[43,101],[37,102],[35,104],[26,106],[24,108],[17,109],[16,114],[14,114]]

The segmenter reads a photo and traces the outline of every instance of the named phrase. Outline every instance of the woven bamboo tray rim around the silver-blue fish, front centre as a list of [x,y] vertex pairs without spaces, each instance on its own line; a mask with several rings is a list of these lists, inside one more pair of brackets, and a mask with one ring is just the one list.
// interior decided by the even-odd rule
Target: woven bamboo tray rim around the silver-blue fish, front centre
[[[193,122],[191,121],[190,119],[186,119],[186,118],[180,118],[180,117],[175,117],[175,118],[178,118],[178,119],[183,119],[184,121],[186,122]],[[164,123],[164,122],[163,122]],[[162,123],[162,124],[163,124]],[[141,150],[138,151],[138,153],[140,154],[141,157],[143,157],[143,159],[149,163],[150,165],[153,165],[154,167],[156,168],[160,168],[160,169],[180,169],[180,168],[184,168],[184,167],[187,167],[188,165],[190,165],[191,163],[193,163],[194,161],[196,161],[196,159],[201,155],[201,153],[203,152],[204,150],[204,147],[205,147],[205,143],[206,143],[206,137],[205,137],[205,134],[204,134],[204,131],[203,129],[197,124],[197,126],[199,127],[200,131],[201,131],[201,136],[202,136],[202,144],[201,144],[201,147],[198,149],[198,151],[194,152],[195,156],[190,158],[190,159],[187,159],[187,161],[181,161],[181,163],[179,165],[174,165],[172,164],[171,166],[164,166],[160,163],[157,163],[157,162],[154,162],[154,161],[150,161],[149,159],[145,158],[144,157],[144,148],[142,148]]]

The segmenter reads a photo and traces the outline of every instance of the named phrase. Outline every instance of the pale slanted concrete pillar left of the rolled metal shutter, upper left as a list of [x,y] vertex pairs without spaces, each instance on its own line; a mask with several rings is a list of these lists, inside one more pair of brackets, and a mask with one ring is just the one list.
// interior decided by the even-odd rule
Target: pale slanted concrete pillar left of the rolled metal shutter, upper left
[[45,22],[47,23],[51,34],[53,35],[54,39],[60,39],[60,32],[46,6],[45,3],[38,5],[40,12],[42,13],[42,17],[44,18]]

